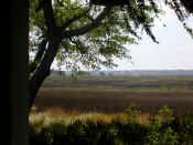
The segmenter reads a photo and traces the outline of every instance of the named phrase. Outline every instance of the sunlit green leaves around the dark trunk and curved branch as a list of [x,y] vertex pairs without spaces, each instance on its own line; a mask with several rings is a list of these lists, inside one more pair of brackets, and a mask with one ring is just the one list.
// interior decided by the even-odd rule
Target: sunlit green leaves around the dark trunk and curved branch
[[[54,0],[52,8],[56,25],[62,28],[64,35],[66,32],[71,33],[89,25],[104,11],[104,7],[93,6],[89,2],[60,1]],[[37,45],[42,38],[47,37],[44,11],[43,9],[36,11],[39,4],[39,0],[30,2],[30,43],[32,44],[30,51],[33,50],[33,53],[39,51]],[[124,8],[114,6],[106,18],[97,22],[98,27],[81,35],[64,37],[55,60],[71,70],[78,69],[81,65],[93,70],[117,66],[115,58],[131,59],[126,44],[138,43],[141,39],[139,30],[146,31],[157,42],[151,25],[158,13],[160,10],[154,2],[143,0],[130,0],[129,6]]]

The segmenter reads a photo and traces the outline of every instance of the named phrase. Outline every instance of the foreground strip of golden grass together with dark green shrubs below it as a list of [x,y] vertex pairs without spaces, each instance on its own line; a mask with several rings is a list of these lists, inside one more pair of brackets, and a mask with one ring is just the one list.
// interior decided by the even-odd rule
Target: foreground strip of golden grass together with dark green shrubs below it
[[30,145],[193,145],[193,112],[178,116],[164,106],[146,122],[140,116],[135,104],[119,115],[31,114]]

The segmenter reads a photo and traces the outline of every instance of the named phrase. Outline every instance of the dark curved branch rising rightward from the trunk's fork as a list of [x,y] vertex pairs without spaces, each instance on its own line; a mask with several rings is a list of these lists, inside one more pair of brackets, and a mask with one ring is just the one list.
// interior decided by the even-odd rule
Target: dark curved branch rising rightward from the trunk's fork
[[90,31],[94,28],[97,28],[100,25],[101,21],[108,15],[110,12],[111,7],[106,7],[104,11],[90,23],[75,30],[69,30],[69,31],[64,31],[63,32],[63,38],[71,38],[71,37],[77,37],[77,35],[83,35],[86,32]]

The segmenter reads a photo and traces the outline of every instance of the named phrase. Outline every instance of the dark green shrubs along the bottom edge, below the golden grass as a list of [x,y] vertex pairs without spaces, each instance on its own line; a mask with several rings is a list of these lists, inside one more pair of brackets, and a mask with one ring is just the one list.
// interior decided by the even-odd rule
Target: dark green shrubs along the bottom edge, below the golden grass
[[[129,106],[129,112],[135,111],[136,105]],[[89,118],[45,126],[40,122],[29,126],[29,139],[30,145],[192,145],[192,121],[193,113],[175,116],[163,106],[158,115],[150,116],[148,124],[125,122],[120,117],[109,123]]]

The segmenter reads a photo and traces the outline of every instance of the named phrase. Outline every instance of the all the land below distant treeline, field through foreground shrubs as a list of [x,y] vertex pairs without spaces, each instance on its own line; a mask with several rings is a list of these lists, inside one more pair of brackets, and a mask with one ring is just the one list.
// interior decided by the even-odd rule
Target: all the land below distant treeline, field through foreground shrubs
[[193,77],[49,77],[29,117],[29,142],[193,145],[192,104]]

